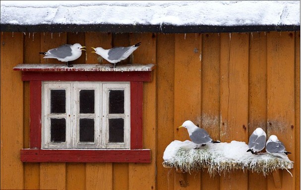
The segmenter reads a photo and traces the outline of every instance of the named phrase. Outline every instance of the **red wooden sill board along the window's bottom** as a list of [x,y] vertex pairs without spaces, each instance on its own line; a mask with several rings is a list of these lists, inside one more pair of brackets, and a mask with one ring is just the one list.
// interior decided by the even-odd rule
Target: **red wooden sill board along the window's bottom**
[[150,163],[150,149],[21,149],[22,162]]

